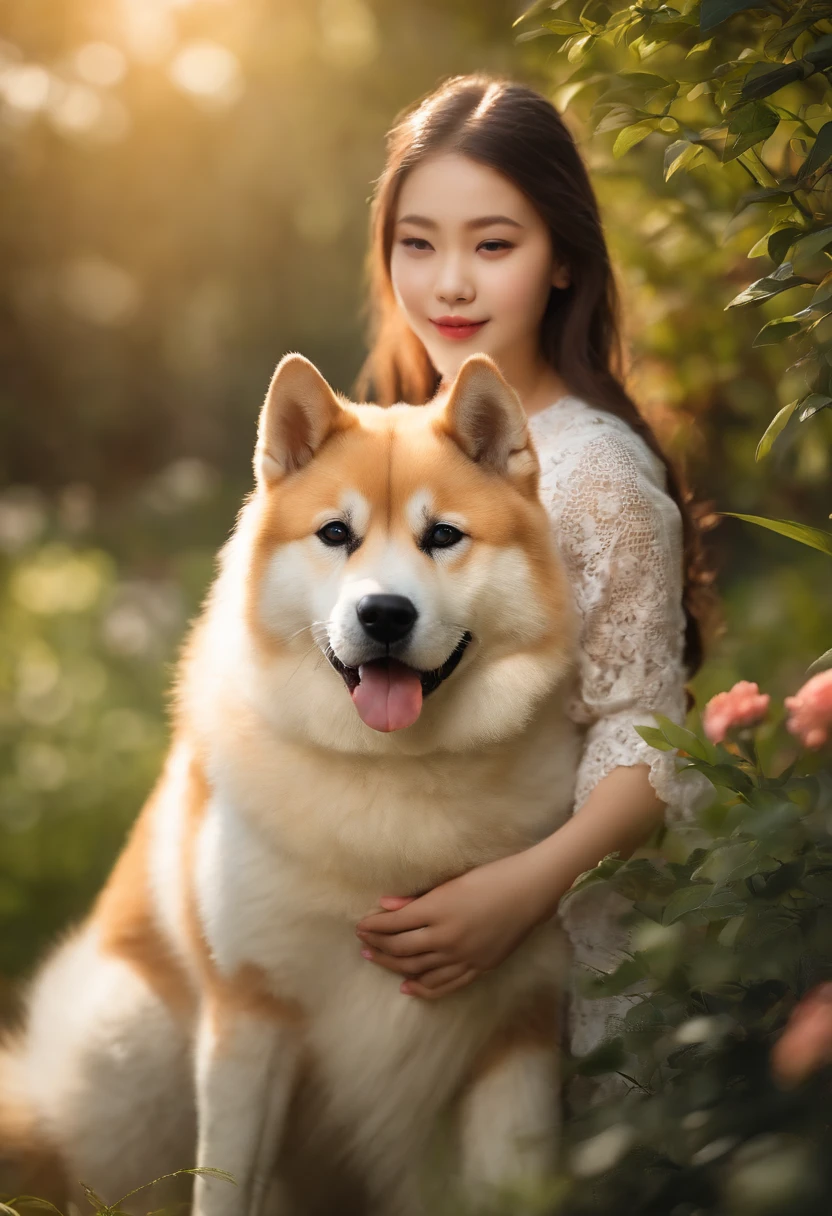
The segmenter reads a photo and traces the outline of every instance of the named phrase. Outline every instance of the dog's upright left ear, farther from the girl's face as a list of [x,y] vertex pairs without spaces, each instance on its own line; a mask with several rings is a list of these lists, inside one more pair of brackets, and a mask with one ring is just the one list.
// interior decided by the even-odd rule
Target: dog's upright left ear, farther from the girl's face
[[303,355],[285,355],[260,411],[254,450],[258,482],[276,482],[303,468],[324,440],[350,421],[315,365]]

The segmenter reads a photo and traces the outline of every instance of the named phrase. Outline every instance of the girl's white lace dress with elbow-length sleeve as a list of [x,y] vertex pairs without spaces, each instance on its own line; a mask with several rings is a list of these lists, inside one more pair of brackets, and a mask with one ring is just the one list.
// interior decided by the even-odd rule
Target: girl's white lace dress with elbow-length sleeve
[[[662,461],[622,418],[563,396],[529,420],[540,457],[540,496],[580,614],[578,680],[569,716],[585,727],[574,810],[619,765],[650,765],[670,822],[708,798],[707,781],[679,777],[675,751],[657,751],[634,727],[653,711],[685,721],[682,523]],[[611,970],[625,944],[628,903],[590,888],[561,913],[574,963]],[[584,1054],[603,1037],[626,998],[573,992],[569,1041]]]

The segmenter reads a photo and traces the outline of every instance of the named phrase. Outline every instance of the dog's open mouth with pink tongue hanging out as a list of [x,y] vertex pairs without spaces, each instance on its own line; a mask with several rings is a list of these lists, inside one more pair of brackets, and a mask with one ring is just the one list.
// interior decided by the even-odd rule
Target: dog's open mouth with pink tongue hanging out
[[331,646],[326,657],[347,685],[362,722],[373,731],[401,731],[416,721],[423,698],[455,670],[470,641],[471,634],[465,632],[442,666],[433,671],[417,671],[389,658],[348,668]]

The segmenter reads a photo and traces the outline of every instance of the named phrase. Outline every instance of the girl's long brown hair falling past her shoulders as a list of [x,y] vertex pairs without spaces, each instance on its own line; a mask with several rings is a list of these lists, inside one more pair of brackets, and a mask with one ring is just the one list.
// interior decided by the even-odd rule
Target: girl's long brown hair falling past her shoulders
[[682,518],[685,664],[693,675],[703,658],[702,623],[713,612],[702,529],[680,474],[624,388],[618,288],[595,193],[568,128],[534,89],[484,74],[454,77],[397,119],[371,208],[371,342],[355,393],[382,405],[421,405],[439,388],[439,372],[398,306],[390,253],[401,184],[440,151],[459,152],[508,178],[538,209],[555,254],[569,266],[570,285],[550,293],[541,350],[570,393],[628,422],[667,468],[668,492]]

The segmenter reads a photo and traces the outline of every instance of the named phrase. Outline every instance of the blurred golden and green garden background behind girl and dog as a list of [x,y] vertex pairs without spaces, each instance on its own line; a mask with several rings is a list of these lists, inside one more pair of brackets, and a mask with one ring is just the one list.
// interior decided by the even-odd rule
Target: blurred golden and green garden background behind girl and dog
[[[0,1012],[89,906],[167,743],[165,697],[251,488],[288,350],[349,393],[369,198],[397,113],[451,74],[566,105],[569,64],[505,0],[0,0]],[[777,698],[831,644],[821,553],[719,520],[828,527],[832,411],[754,449],[791,400],[730,182],[662,152],[590,165],[631,388],[712,524],[725,629],[699,704]],[[720,179],[721,181],[721,179]],[[760,235],[765,229],[760,229]],[[772,313],[772,315],[775,315]]]

